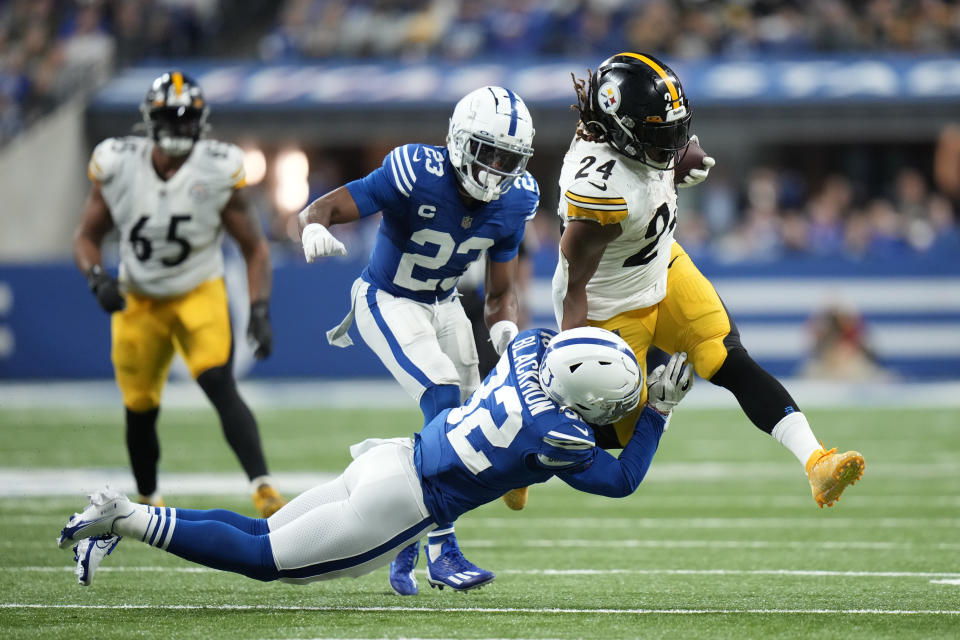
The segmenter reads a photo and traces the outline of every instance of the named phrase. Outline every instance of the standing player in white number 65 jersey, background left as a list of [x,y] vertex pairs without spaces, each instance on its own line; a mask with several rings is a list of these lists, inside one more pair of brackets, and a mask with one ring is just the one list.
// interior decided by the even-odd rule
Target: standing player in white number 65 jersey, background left
[[[250,479],[263,516],[285,504],[267,471],[257,423],[237,391],[223,280],[226,230],[247,263],[248,337],[255,356],[272,346],[270,249],[240,194],[243,152],[203,139],[208,108],[179,71],[154,80],[141,105],[146,137],[107,138],[88,165],[93,186],[74,240],[77,266],[111,314],[111,359],[126,407],[126,441],[139,501],[162,505],[157,488],[160,396],[176,350],[213,403],[224,436]],[[119,280],[101,244],[120,241]]]

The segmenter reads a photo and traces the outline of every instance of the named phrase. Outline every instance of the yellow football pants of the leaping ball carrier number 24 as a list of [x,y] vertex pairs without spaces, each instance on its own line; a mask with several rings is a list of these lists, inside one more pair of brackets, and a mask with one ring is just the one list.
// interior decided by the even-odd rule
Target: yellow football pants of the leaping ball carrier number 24
[[[607,320],[591,320],[590,324],[619,334],[633,349],[643,371],[647,349],[653,344],[668,354],[686,351],[697,375],[706,380],[713,377],[726,359],[724,339],[733,326],[713,285],[676,242],[670,250],[667,293],[663,300],[652,307],[624,311]],[[630,440],[646,400],[644,384],[637,411],[614,425],[620,444],[626,445]]]

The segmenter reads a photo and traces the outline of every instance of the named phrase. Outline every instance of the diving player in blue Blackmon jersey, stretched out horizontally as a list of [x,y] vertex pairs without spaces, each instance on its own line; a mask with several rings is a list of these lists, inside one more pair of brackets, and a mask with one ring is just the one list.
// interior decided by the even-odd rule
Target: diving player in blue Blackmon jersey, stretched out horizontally
[[[596,446],[591,425],[637,408],[644,385],[633,351],[596,327],[531,329],[513,340],[466,404],[441,411],[412,438],[354,445],[340,476],[269,518],[150,507],[106,489],[70,518],[59,545],[77,543],[78,574],[87,583],[118,536],[263,581],[360,576],[441,523],[552,476],[588,493],[629,495],[691,375],[682,353],[650,374],[648,400],[614,458]],[[428,564],[428,578],[432,569]]]

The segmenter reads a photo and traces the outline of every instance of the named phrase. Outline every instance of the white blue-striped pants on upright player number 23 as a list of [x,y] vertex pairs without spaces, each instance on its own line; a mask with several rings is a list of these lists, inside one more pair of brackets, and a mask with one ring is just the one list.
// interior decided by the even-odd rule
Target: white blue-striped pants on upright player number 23
[[460,299],[428,304],[398,298],[357,278],[357,329],[397,382],[420,402],[427,387],[453,384],[460,401],[480,386],[473,327]]

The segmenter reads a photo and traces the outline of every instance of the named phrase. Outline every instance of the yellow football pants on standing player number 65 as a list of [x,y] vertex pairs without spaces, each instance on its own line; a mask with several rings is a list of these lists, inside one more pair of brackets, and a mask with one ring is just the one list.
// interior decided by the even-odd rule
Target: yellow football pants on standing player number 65
[[128,293],[126,301],[111,318],[111,359],[128,409],[160,406],[174,349],[194,378],[229,361],[233,336],[223,278],[173,298]]

